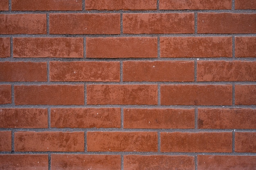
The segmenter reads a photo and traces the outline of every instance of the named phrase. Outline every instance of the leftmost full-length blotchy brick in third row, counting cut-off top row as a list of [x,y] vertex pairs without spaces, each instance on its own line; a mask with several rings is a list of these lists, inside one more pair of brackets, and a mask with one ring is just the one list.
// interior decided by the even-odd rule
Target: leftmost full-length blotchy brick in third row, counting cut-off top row
[[13,38],[13,57],[83,58],[83,38]]

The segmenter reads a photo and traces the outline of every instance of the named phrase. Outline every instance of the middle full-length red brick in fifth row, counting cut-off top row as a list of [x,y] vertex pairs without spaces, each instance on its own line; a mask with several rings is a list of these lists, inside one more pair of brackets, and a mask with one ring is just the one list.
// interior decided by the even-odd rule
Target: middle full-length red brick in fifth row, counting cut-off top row
[[157,85],[87,85],[87,104],[157,104]]

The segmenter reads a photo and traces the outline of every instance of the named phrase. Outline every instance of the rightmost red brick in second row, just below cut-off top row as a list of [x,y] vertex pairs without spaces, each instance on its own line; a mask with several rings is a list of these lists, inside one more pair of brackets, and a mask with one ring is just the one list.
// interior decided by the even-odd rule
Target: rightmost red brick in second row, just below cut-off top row
[[256,13],[198,13],[198,33],[256,33]]

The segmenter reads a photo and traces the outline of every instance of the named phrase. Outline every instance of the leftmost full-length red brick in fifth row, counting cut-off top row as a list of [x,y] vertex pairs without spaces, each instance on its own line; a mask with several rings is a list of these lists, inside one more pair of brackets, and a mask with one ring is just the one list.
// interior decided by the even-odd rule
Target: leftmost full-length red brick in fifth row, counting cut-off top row
[[83,105],[83,85],[14,86],[14,101],[22,104]]

